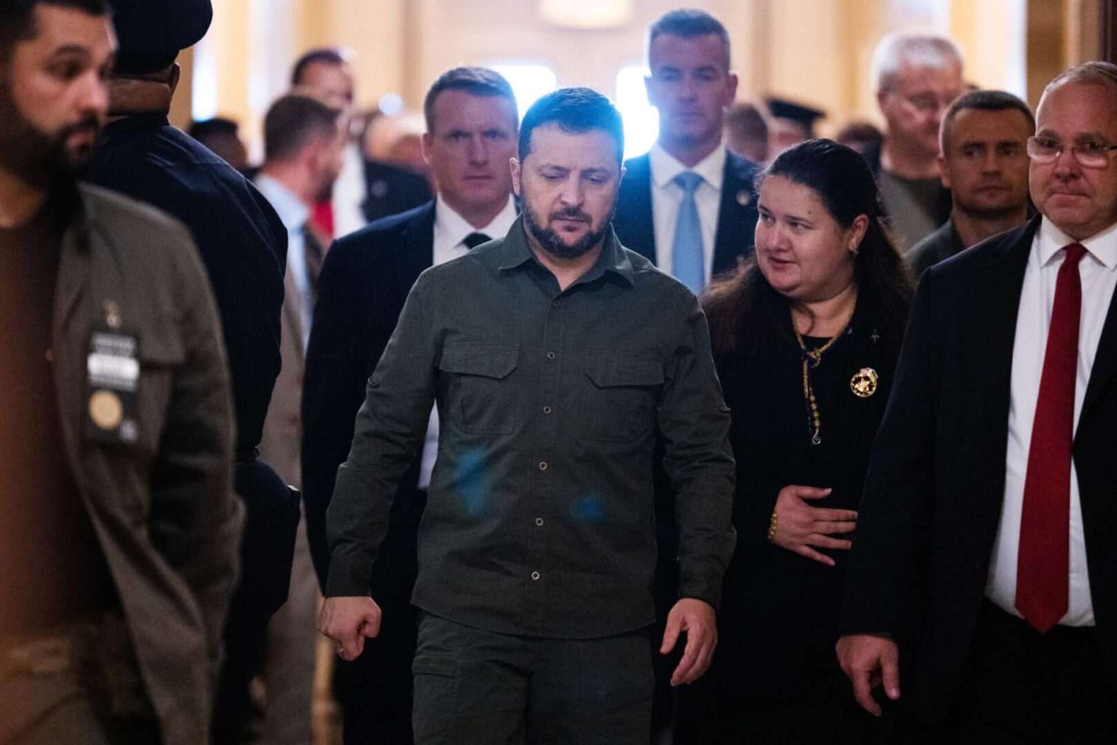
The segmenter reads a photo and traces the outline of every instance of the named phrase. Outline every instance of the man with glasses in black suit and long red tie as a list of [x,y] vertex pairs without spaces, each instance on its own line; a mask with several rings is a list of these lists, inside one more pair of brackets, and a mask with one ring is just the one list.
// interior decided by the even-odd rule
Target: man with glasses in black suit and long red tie
[[858,700],[904,660],[935,742],[1117,738],[1117,66],[1037,124],[1040,216],[923,275],[846,585]]

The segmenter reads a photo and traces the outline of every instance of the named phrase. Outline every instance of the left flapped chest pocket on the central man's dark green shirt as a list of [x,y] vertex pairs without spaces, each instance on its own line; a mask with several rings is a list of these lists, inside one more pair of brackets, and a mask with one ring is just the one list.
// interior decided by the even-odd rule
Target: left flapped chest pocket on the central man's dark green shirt
[[505,380],[519,348],[487,342],[455,342],[442,350],[446,411],[471,434],[509,434],[516,427],[516,390]]

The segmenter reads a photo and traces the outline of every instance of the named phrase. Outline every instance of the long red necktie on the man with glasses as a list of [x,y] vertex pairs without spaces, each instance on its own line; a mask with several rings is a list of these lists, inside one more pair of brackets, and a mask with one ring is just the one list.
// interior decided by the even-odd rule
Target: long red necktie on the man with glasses
[[1079,243],[1066,247],[1054,285],[1043,374],[1028,450],[1016,557],[1016,610],[1043,633],[1067,612],[1070,574],[1070,457],[1082,281]]

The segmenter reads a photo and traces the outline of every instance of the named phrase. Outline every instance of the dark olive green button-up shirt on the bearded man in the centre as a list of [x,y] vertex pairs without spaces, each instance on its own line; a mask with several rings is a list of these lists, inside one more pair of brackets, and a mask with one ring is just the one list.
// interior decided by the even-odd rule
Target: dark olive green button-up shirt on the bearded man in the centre
[[679,594],[717,605],[734,545],[734,462],[706,318],[612,231],[565,290],[522,219],[419,277],[337,472],[327,595],[369,593],[432,401],[441,429],[416,605],[551,638],[651,623],[657,436],[676,494]]

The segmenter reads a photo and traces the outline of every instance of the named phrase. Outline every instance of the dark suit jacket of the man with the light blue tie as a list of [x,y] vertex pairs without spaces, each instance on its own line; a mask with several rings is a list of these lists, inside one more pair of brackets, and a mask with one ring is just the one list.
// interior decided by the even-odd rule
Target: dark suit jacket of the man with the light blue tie
[[[647,153],[631,157],[624,161],[624,168],[628,173],[621,181],[613,230],[626,248],[656,264],[656,229],[651,218],[651,157]],[[756,193],[753,188],[755,176],[756,166],[753,163],[726,153],[722,204],[714,233],[714,276],[732,271],[737,266],[738,256],[753,252],[753,232],[756,229]]]

